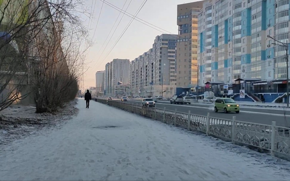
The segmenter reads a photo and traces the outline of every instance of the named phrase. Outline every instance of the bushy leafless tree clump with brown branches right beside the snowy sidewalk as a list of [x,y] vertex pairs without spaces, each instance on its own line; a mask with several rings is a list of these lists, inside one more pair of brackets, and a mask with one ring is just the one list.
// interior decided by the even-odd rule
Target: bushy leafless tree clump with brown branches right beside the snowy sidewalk
[[50,12],[55,12],[50,27],[46,27],[51,36],[38,36],[33,46],[37,54],[34,57],[40,57],[31,74],[36,112],[55,112],[78,92],[80,65],[87,50],[81,49],[87,41],[87,30],[73,15],[80,2],[59,0],[49,4]]

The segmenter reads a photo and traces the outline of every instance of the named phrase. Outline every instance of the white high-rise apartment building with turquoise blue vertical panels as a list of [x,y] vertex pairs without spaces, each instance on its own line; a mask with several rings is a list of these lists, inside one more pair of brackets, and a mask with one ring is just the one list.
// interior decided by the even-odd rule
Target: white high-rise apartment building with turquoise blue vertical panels
[[271,37],[286,43],[289,32],[289,0],[206,1],[198,15],[200,83],[285,79],[286,47]]

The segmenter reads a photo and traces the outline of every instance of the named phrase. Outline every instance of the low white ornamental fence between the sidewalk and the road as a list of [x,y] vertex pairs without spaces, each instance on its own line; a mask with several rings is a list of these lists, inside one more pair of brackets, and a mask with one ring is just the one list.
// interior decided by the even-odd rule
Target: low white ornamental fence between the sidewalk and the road
[[276,126],[275,121],[272,121],[272,125],[265,125],[237,121],[235,116],[232,120],[228,120],[210,117],[210,113],[207,113],[207,116],[202,116],[191,114],[190,111],[184,113],[177,112],[177,109],[175,111],[166,110],[166,107],[159,109],[102,98],[95,100],[163,123],[203,132],[206,135],[231,141],[233,144],[268,150],[272,156],[290,161],[290,128]]

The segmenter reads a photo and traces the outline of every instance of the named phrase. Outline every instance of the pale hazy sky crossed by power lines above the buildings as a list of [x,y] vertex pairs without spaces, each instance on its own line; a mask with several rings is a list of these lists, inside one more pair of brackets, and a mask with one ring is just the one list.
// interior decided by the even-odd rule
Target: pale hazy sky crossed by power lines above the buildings
[[[110,7],[105,3],[101,10],[101,6],[103,3],[101,0],[87,0],[86,1],[87,5],[91,6],[92,1],[93,1],[92,21],[90,21],[91,24],[90,26],[88,26],[89,19],[87,19],[86,24],[91,29],[90,38],[93,38],[93,34],[95,32],[95,36],[93,38],[95,44],[90,48],[90,51],[88,52],[88,56],[86,59],[87,67],[90,68],[84,74],[85,89],[87,87],[89,88],[90,86],[93,87],[95,86],[95,72],[104,70],[105,64],[112,61],[114,58],[123,58],[123,59],[127,58],[130,61],[134,60],[139,55],[143,54],[144,52],[147,52],[150,48],[152,48],[152,44],[154,43],[155,37],[157,35],[162,34],[162,32],[158,30],[155,30],[151,27],[142,24],[141,22],[133,20],[132,24],[124,33],[120,41],[118,41],[118,43],[116,44],[115,48],[112,49],[112,51],[109,53],[111,47],[115,44],[118,37],[122,34],[123,30],[126,28],[126,26],[128,25],[129,21],[132,18],[124,15],[124,17],[121,20],[121,23],[119,24],[118,28],[113,34],[115,28],[117,27],[117,24],[119,23],[123,15],[123,13],[121,13],[112,32],[110,33],[107,41],[105,42],[120,12],[118,10],[113,9],[112,7]],[[118,8],[122,8],[124,3],[126,2],[126,0],[106,0],[106,1],[115,5]],[[127,0],[123,10],[127,8],[130,1],[131,0]],[[127,9],[127,12],[134,15],[143,1],[144,0],[132,0]],[[137,17],[153,25],[156,25],[166,31],[169,31],[170,33],[177,34],[178,33],[178,26],[176,25],[177,5],[195,1],[197,0],[147,0],[144,7],[138,13]],[[101,15],[97,24],[100,11]],[[112,39],[109,41],[111,36]],[[109,44],[105,49],[105,46],[108,41]],[[103,44],[104,46],[102,47]],[[107,56],[107,58],[105,58],[107,53],[109,53],[109,55]]]

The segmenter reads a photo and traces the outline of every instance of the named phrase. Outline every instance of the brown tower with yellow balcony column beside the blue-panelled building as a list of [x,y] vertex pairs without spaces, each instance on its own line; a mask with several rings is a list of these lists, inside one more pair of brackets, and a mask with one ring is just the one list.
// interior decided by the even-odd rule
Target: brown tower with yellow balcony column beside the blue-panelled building
[[204,1],[177,6],[177,76],[178,87],[198,84],[198,14]]

